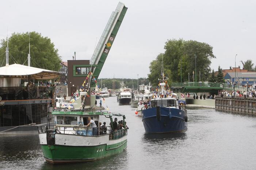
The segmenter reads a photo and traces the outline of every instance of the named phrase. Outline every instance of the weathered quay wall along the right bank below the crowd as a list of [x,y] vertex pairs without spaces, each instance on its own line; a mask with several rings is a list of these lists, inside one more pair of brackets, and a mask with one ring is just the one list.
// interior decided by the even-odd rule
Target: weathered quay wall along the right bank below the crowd
[[256,115],[256,98],[216,96],[215,109],[219,111]]

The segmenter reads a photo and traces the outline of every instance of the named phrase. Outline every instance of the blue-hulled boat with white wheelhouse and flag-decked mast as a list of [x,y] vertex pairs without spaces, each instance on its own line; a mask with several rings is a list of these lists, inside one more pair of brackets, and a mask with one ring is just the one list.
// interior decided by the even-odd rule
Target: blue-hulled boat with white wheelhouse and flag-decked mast
[[[164,74],[163,74],[164,75]],[[173,133],[187,130],[187,110],[177,94],[165,90],[166,78],[160,79],[161,92],[153,95],[150,105],[142,109],[142,122],[146,133]]]

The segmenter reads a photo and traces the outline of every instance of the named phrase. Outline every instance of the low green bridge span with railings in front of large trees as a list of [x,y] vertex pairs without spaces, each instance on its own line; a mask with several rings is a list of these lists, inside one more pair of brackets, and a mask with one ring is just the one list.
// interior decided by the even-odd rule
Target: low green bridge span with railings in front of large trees
[[183,93],[199,93],[209,92],[217,93],[218,90],[239,90],[246,91],[247,88],[237,85],[230,85],[227,83],[216,83],[216,82],[184,82],[184,83],[171,83],[172,89],[179,89]]

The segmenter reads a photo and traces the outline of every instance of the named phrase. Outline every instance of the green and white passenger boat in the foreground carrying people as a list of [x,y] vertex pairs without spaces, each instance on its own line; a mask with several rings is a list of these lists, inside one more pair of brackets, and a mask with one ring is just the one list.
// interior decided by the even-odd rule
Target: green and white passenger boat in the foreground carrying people
[[[103,111],[54,110],[54,125],[39,127],[44,158],[49,163],[93,161],[118,154],[127,147],[125,116]],[[122,117],[123,129],[114,131],[112,116]],[[96,128],[87,127],[88,117]],[[110,126],[99,127],[100,121]]]

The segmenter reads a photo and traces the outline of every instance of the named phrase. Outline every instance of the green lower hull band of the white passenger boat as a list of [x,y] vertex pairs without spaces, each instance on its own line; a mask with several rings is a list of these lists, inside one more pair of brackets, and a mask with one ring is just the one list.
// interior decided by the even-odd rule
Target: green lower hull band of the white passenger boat
[[[127,139],[112,145],[64,146],[41,145],[46,161],[51,163],[70,161],[92,161],[121,153],[127,147]],[[56,162],[54,162],[56,161]]]

